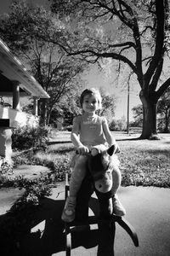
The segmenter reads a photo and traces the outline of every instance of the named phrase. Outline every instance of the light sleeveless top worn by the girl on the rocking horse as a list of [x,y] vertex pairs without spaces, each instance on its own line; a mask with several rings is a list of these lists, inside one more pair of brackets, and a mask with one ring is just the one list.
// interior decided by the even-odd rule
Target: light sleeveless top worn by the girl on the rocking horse
[[105,117],[95,115],[86,117],[83,114],[73,119],[72,132],[80,136],[80,141],[87,147],[105,144],[103,125],[106,124]]

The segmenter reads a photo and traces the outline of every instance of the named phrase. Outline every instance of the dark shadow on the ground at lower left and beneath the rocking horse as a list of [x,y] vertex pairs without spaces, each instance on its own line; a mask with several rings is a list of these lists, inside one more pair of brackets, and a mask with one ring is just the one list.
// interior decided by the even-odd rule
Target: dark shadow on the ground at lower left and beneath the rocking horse
[[[38,210],[30,212],[31,218],[22,222],[22,231],[17,233],[15,223],[12,224],[16,231],[14,234],[11,234],[10,229],[5,231],[1,229],[3,232],[0,236],[0,254],[3,256],[51,256],[53,253],[65,251],[65,223],[60,218],[64,203],[64,200],[44,198]],[[90,201],[90,207],[94,206],[95,208],[94,212],[97,212],[97,205],[97,199],[94,198]],[[0,216],[0,223],[7,224],[9,217],[8,213]],[[24,219],[23,214],[20,218]],[[10,219],[10,221],[12,220]],[[40,230],[31,232],[31,229],[42,221],[45,223],[42,232]],[[99,224],[96,230],[72,229],[71,247],[92,248],[98,246],[98,256],[113,256],[114,237],[114,224],[112,226]]]

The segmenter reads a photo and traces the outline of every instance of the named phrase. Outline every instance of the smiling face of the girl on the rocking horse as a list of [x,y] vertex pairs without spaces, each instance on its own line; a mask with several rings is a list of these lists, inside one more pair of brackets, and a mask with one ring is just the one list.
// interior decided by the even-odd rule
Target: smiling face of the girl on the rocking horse
[[96,96],[94,95],[85,95],[82,102],[82,109],[87,113],[95,113],[98,109],[99,104]]

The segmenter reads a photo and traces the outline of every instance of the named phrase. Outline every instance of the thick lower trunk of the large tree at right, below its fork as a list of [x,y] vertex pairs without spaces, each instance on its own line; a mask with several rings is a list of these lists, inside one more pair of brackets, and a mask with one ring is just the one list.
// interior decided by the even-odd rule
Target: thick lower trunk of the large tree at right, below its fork
[[150,139],[157,135],[156,128],[156,102],[151,101],[149,97],[140,94],[143,103],[143,130],[141,139]]

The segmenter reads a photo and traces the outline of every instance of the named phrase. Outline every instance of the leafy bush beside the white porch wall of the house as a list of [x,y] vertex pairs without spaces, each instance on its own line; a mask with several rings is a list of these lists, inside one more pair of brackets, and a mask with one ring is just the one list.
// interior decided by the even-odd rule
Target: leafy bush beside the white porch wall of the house
[[48,126],[17,128],[12,135],[12,148],[16,150],[47,148],[49,131]]

